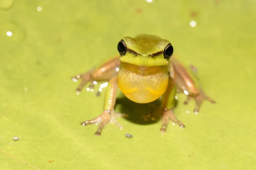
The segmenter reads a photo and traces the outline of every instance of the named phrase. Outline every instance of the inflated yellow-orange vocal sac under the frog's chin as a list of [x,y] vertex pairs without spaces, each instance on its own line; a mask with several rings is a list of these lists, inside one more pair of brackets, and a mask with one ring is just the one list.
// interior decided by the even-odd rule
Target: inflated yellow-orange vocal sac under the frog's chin
[[169,81],[167,66],[137,66],[120,63],[118,85],[122,93],[137,103],[149,103],[166,91]]

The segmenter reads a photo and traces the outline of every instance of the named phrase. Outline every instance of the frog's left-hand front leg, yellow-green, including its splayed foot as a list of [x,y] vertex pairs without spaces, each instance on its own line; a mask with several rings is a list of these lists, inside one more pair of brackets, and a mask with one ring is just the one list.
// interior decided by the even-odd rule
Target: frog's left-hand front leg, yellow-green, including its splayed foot
[[98,125],[98,130],[94,133],[96,136],[100,136],[103,128],[109,122],[116,124],[120,129],[122,126],[116,121],[116,118],[126,116],[124,113],[116,113],[114,111],[114,106],[116,103],[116,91],[117,91],[117,76],[110,79],[108,82],[107,89],[105,91],[105,99],[104,99],[104,111],[101,115],[97,116],[94,119],[87,120],[85,122],[81,122],[81,125]]

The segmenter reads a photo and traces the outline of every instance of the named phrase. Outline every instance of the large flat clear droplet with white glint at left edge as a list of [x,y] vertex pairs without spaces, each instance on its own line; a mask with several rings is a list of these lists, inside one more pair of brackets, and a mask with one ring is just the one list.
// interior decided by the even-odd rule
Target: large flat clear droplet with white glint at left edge
[[20,42],[25,38],[25,31],[15,23],[0,23],[0,40]]

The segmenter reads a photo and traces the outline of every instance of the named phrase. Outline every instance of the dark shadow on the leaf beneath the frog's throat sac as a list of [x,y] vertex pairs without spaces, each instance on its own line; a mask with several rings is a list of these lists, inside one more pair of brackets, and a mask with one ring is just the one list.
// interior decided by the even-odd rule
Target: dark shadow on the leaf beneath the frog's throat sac
[[[130,122],[139,125],[150,125],[160,121],[161,113],[156,114],[156,116],[154,117],[154,121],[146,121],[145,119],[143,119],[143,116],[146,116],[150,112],[154,112],[155,109],[160,106],[160,104],[160,99],[145,104],[132,102],[130,99],[128,99],[122,94],[121,96],[116,98],[115,110],[120,113],[128,114],[128,117],[124,118]],[[177,102],[175,103],[175,105],[177,105]]]

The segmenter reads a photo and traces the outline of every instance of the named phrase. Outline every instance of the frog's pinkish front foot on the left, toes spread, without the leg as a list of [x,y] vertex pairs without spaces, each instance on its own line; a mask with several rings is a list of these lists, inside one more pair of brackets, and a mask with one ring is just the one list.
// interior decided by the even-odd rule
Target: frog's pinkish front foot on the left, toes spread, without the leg
[[117,125],[120,129],[122,129],[123,127],[116,121],[116,118],[119,118],[119,117],[128,117],[128,115],[124,113],[117,113],[113,110],[110,110],[110,111],[104,110],[103,113],[98,117],[96,117],[95,119],[81,122],[81,125],[83,126],[93,125],[93,124],[98,125],[98,130],[94,134],[96,136],[100,136],[103,128],[109,122],[111,122],[111,124]]

